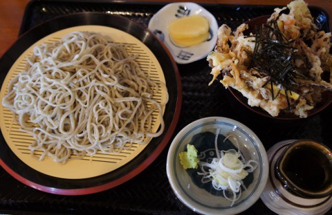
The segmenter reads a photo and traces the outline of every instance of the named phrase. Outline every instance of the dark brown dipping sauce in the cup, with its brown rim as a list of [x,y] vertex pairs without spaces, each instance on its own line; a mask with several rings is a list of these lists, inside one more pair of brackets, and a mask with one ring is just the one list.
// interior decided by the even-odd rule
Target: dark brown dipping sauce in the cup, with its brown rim
[[295,141],[280,156],[276,173],[299,196],[328,196],[332,193],[331,150],[311,140]]

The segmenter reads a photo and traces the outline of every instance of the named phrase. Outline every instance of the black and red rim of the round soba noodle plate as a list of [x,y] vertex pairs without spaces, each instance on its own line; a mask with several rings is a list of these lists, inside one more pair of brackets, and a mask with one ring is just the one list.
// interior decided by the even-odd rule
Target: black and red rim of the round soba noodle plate
[[[101,18],[101,19],[97,19]],[[132,35],[129,31],[130,29],[119,29],[119,27],[116,27],[118,24],[113,24],[112,19],[116,19],[116,21],[122,21],[126,24],[128,24],[130,27],[133,26],[134,28],[139,28],[142,30],[143,33],[145,33],[145,36],[143,39],[138,38],[138,35]],[[77,23],[80,22],[80,23]],[[36,41],[39,41],[39,39],[42,39],[43,37],[46,37],[47,35],[50,35],[53,32],[57,32],[58,30],[62,30],[64,28],[71,28],[75,26],[87,26],[87,25],[97,25],[97,26],[107,26],[111,28],[117,28],[119,30],[122,30],[124,32],[127,32],[131,34],[133,37],[136,37],[136,39],[140,40],[142,44],[145,44],[150,50],[151,50],[151,44],[148,45],[148,42],[154,42],[154,45],[161,46],[161,48],[164,50],[163,53],[160,55],[165,55],[167,56],[167,60],[170,61],[170,64],[172,65],[167,65],[169,68],[172,70],[172,74],[174,75],[174,78],[176,79],[176,86],[173,87],[174,91],[176,93],[176,97],[172,98],[172,104],[169,104],[169,106],[172,110],[172,113],[169,113],[170,115],[165,116],[166,113],[164,113],[164,119],[167,117],[167,120],[169,121],[169,126],[165,127],[165,131],[163,134],[160,136],[160,142],[157,142],[156,146],[151,150],[151,153],[149,153],[145,158],[140,158],[142,162],[140,162],[138,165],[133,165],[133,167],[130,167],[131,170],[127,172],[127,174],[124,174],[123,176],[119,176],[118,178],[111,179],[105,183],[95,183],[95,185],[91,185],[89,187],[71,187],[71,188],[63,188],[59,187],[59,185],[53,185],[53,186],[47,186],[47,185],[42,185],[41,183],[37,183],[36,181],[32,180],[31,178],[27,178],[25,176],[21,176],[21,174],[13,168],[10,163],[8,163],[8,160],[6,158],[3,158],[3,155],[0,152],[0,165],[5,169],[8,174],[19,180],[21,183],[24,183],[25,185],[28,185],[29,187],[33,187],[35,189],[39,189],[41,191],[45,191],[51,194],[61,194],[61,195],[68,195],[68,196],[73,196],[73,195],[83,195],[83,194],[93,194],[97,193],[99,191],[104,191],[106,189],[111,189],[112,187],[116,187],[118,185],[121,185],[124,182],[127,182],[134,176],[140,174],[144,169],[146,169],[156,158],[160,155],[160,153],[165,149],[167,146],[169,140],[171,140],[172,135],[176,129],[176,124],[178,122],[179,116],[180,116],[180,111],[181,111],[181,104],[182,104],[182,84],[181,84],[181,76],[178,71],[178,67],[176,65],[176,62],[172,58],[171,53],[163,44],[158,37],[156,37],[148,28],[147,26],[144,26],[143,24],[140,24],[136,21],[133,21],[131,19],[128,19],[127,17],[122,17],[120,15],[109,15],[105,14],[102,12],[77,12],[73,13],[70,15],[62,15],[59,17],[55,17],[53,19],[50,19],[48,21],[43,22],[42,24],[39,24],[35,26],[34,28],[31,28],[24,34],[22,34],[17,41],[15,41],[10,48],[6,51],[6,53],[3,54],[3,56],[0,58],[0,65],[3,64],[3,68],[1,68],[2,73],[0,73],[0,82],[1,85],[3,83],[3,80],[5,79],[9,69],[11,68],[12,64],[15,63],[16,59],[21,56],[22,53],[26,50],[26,48],[29,48],[32,46]],[[125,26],[120,26],[121,28],[125,28]],[[139,34],[139,32],[137,33]],[[151,41],[145,40],[147,39],[147,35],[149,35],[150,39],[152,38]],[[28,44],[28,45],[27,45]],[[24,46],[23,46],[24,45]],[[21,47],[19,50],[17,50],[17,47]],[[26,47],[26,48],[25,48]],[[151,50],[151,52],[153,52]],[[154,53],[154,52],[153,52]],[[158,55],[158,53],[154,53],[154,55]],[[158,57],[156,56],[158,59]],[[159,60],[158,60],[159,61]],[[163,73],[165,76],[165,79],[167,79],[167,75],[165,74],[165,65],[162,65],[162,62],[159,62],[160,66],[163,68]],[[9,66],[8,66],[9,64]],[[163,63],[165,64],[165,63]],[[9,68],[8,68],[9,67]],[[173,83],[174,84],[174,83]],[[167,86],[168,88],[168,86]],[[171,97],[170,97],[171,98]],[[167,110],[167,106],[165,107],[165,111]],[[156,139],[158,141],[158,139]],[[4,143],[4,144],[3,144]],[[151,143],[155,143],[152,142]],[[0,149],[3,149],[3,147],[8,147],[8,144],[3,138],[2,132],[0,135]],[[8,147],[9,148],[9,147]],[[8,151],[8,149],[6,149]],[[143,150],[146,151],[147,147]],[[3,150],[1,150],[3,151]],[[143,152],[142,151],[142,152]],[[10,149],[9,152],[13,153]],[[141,152],[141,153],[142,153]],[[12,156],[12,155],[10,155]],[[139,156],[139,155],[138,155]],[[12,156],[13,158],[17,158],[17,156]],[[19,159],[19,158],[17,158]],[[136,160],[134,158],[133,160]],[[124,165],[124,167],[128,168],[128,166],[132,165],[132,161],[127,163],[127,165]],[[21,160],[20,160],[21,162]],[[24,162],[22,162],[22,165],[26,165]],[[27,166],[27,165],[26,165]],[[48,176],[42,173],[39,173],[38,171],[35,171],[35,169],[32,169],[31,167],[27,167],[28,169],[34,171],[34,173],[37,172],[39,177],[45,178],[45,180],[52,178],[53,180],[60,180],[62,182],[70,182],[70,183],[75,183],[75,181],[80,182],[82,184],[82,181],[84,180],[89,180],[91,178],[86,178],[86,179],[64,179],[64,178],[56,178],[53,176]],[[120,169],[123,167],[120,167]],[[102,176],[96,176],[93,177],[93,180],[98,177],[105,177],[109,174],[112,174],[112,171],[108,174],[104,174]],[[105,179],[104,179],[105,180]]]

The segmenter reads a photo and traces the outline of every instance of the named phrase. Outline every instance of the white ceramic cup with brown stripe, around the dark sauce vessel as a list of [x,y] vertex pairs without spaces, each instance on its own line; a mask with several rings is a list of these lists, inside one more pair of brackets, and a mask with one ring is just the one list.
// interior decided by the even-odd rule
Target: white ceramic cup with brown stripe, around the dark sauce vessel
[[266,188],[261,194],[263,203],[277,214],[323,215],[332,207],[332,195],[324,198],[302,198],[289,192],[275,177],[275,163],[288,144],[295,140],[284,140],[268,149],[270,174]]

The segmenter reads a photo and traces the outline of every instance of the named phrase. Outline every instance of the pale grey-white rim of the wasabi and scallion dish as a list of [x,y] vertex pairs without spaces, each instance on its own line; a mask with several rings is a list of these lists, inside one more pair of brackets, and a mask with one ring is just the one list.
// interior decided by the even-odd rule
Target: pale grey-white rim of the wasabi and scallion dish
[[[175,174],[174,174],[174,156],[176,156],[176,150],[178,148],[179,140],[181,140],[185,135],[190,133],[195,127],[199,126],[199,124],[214,124],[214,122],[226,122],[229,124],[233,124],[237,127],[237,129],[240,129],[241,132],[244,132],[252,138],[252,141],[255,141],[255,148],[257,151],[259,151],[259,156],[261,160],[261,173],[259,175],[259,184],[254,188],[254,191],[252,192],[250,198],[246,199],[241,203],[241,205],[236,205],[235,207],[228,207],[227,209],[220,209],[215,208],[212,209],[211,207],[205,207],[204,205],[199,205],[198,203],[195,203],[194,201],[187,202],[187,198],[190,198],[185,192],[183,192],[181,189],[179,189],[180,185],[176,182]],[[261,140],[259,140],[258,136],[246,125],[242,124],[241,122],[238,122],[236,120],[232,120],[230,118],[224,118],[224,117],[208,117],[208,118],[201,118],[199,120],[196,120],[194,122],[191,122],[190,124],[187,124],[186,127],[181,129],[180,132],[176,135],[174,140],[172,141],[169,151],[167,153],[167,178],[169,180],[169,184],[171,185],[174,194],[178,197],[181,202],[192,209],[194,212],[198,212],[200,214],[220,214],[220,212],[223,212],[223,214],[238,214],[240,212],[243,212],[244,210],[248,209],[252,205],[256,203],[256,201],[261,196],[261,193],[264,191],[265,185],[268,180],[268,156],[265,150],[264,145],[262,144]]]

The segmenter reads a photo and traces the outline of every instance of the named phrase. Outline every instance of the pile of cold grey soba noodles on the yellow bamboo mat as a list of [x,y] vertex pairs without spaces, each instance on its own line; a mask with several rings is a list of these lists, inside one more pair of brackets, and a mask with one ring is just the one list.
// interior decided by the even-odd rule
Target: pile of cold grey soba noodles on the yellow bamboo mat
[[[28,69],[13,79],[3,106],[33,135],[32,153],[66,162],[71,156],[120,151],[145,144],[164,130],[163,106],[154,92],[165,84],[140,69],[130,47],[102,35],[72,32],[33,50]],[[160,129],[151,131],[152,113]]]

